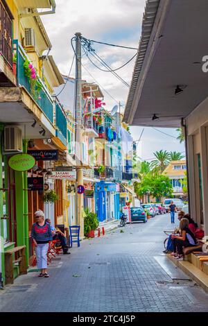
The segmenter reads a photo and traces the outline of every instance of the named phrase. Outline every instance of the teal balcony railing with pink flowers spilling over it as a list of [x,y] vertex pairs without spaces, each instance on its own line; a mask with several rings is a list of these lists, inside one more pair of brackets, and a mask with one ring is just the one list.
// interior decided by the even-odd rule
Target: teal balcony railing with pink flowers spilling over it
[[37,94],[37,92],[35,92],[36,89],[31,87],[31,83],[24,73],[24,62],[28,59],[28,56],[18,40],[14,40],[13,44],[17,53],[17,85],[26,88],[28,93],[33,97],[33,100],[40,106],[42,112],[44,112],[46,117],[48,117],[51,123],[53,123],[53,98],[51,94],[39,77],[37,77],[37,80],[42,85],[40,93]]

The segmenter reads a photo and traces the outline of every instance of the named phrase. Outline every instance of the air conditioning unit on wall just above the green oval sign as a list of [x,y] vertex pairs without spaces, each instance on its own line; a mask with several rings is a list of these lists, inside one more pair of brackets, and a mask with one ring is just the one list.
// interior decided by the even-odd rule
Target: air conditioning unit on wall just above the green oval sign
[[17,126],[4,127],[4,151],[22,152],[21,129]]

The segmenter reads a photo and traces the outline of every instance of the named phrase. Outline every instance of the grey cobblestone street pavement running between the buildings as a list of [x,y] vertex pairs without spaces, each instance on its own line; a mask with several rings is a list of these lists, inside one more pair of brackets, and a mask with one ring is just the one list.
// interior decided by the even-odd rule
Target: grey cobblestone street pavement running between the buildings
[[[208,294],[162,253],[168,214],[81,241],[0,292],[0,311],[208,311]],[[121,233],[121,230],[123,232]]]

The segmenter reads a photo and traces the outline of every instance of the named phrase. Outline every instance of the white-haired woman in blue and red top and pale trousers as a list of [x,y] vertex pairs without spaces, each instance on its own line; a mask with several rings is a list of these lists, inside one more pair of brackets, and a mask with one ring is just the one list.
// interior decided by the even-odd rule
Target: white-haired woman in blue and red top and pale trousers
[[44,212],[41,210],[35,212],[35,221],[31,231],[31,237],[35,244],[37,259],[37,268],[41,270],[39,277],[49,277],[47,272],[47,252],[49,250],[49,241],[52,241],[53,234],[51,225],[44,220]]

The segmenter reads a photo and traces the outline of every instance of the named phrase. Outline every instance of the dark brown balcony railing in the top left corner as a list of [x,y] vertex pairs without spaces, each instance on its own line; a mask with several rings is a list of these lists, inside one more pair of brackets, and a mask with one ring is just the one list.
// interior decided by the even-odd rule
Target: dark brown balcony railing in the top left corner
[[0,52],[12,67],[12,21],[0,2]]

